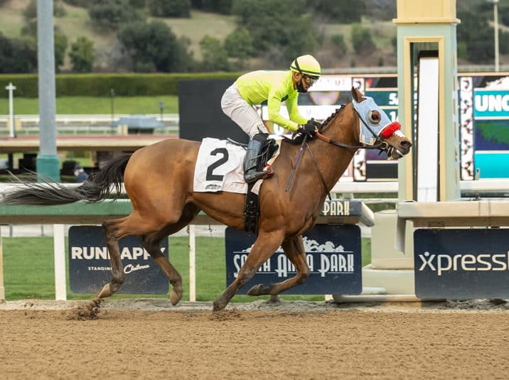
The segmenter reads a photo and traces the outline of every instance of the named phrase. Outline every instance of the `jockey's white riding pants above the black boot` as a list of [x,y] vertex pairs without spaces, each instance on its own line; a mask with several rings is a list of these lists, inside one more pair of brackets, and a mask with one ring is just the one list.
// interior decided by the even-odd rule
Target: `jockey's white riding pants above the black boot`
[[247,103],[242,96],[235,83],[228,87],[221,98],[221,109],[230,117],[238,126],[245,131],[250,137],[260,132],[268,134],[269,131],[262,118],[254,110],[253,107]]

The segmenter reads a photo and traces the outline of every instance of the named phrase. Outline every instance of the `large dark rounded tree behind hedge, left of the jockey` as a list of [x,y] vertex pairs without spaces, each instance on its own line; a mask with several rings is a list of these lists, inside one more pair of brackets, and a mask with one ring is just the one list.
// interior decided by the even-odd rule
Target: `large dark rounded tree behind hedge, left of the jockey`
[[136,72],[185,72],[194,61],[188,45],[177,40],[171,28],[161,21],[137,22],[122,28],[117,38]]

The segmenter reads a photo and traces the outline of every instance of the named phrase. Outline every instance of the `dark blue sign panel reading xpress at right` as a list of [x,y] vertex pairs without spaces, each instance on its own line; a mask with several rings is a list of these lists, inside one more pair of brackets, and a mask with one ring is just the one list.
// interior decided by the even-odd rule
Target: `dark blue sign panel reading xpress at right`
[[421,298],[508,298],[509,229],[417,229],[414,267]]

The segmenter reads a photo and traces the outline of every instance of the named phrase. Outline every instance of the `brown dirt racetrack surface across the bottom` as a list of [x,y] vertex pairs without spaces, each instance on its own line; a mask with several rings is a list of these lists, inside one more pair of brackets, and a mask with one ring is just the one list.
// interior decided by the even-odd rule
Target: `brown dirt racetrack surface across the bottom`
[[507,379],[507,303],[0,304],[0,379]]

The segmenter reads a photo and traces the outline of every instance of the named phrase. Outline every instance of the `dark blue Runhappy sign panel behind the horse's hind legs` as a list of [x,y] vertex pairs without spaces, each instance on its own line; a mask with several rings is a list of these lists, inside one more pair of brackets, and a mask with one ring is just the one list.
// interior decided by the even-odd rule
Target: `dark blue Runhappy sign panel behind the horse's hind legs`
[[[168,279],[137,237],[119,240],[125,282],[117,293],[166,294]],[[168,239],[161,241],[168,257]],[[99,226],[69,229],[69,282],[74,293],[98,293],[111,278],[109,253]]]

